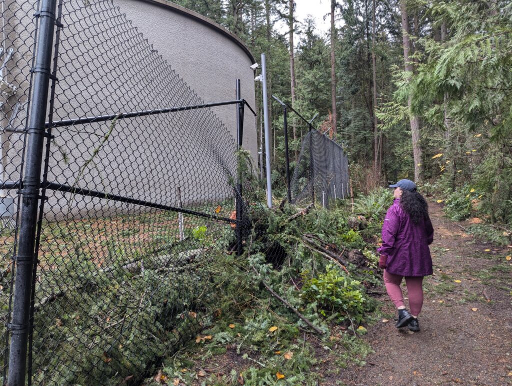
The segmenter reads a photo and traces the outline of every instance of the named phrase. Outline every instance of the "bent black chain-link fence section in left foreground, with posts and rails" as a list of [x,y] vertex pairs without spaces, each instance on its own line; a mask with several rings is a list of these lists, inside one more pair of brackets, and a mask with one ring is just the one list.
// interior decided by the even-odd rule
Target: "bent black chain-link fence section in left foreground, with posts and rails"
[[112,2],[55,3],[2,10],[3,383],[136,381],[241,251],[245,101],[205,104]]

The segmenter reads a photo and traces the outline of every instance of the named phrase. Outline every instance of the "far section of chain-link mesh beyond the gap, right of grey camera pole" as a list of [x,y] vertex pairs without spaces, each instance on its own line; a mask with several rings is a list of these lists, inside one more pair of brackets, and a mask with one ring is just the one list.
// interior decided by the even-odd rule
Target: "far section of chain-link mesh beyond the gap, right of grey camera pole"
[[325,134],[310,130],[291,178],[292,202],[304,206],[316,202],[329,208],[336,199],[348,197],[348,160],[343,148]]

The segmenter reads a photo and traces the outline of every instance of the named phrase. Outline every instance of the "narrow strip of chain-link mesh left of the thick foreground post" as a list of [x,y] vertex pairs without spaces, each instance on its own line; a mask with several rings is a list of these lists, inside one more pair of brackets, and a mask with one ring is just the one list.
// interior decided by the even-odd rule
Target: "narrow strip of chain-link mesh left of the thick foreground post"
[[37,18],[33,2],[2,2],[0,35],[0,367],[6,379],[9,330],[18,234],[19,185],[25,154],[27,112],[35,49]]

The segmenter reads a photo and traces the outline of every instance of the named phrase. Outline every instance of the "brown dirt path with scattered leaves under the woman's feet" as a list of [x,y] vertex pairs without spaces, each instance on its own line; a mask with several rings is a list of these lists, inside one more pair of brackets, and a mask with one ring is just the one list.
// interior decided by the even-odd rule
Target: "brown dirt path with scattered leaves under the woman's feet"
[[435,275],[425,279],[421,331],[396,329],[387,301],[390,321],[365,336],[375,353],[337,384],[512,384],[512,249],[475,242],[438,204],[430,211]]

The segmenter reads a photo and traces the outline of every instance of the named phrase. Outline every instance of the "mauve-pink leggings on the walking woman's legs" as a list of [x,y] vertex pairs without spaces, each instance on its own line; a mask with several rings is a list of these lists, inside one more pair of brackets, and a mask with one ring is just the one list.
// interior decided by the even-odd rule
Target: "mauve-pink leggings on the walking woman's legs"
[[[386,290],[396,308],[406,305],[403,302],[402,290],[400,289],[402,278],[403,276],[388,273],[388,271],[384,270]],[[407,293],[409,294],[411,314],[418,316],[421,311],[421,306],[423,306],[423,276],[406,276],[406,285]]]

